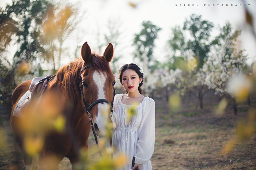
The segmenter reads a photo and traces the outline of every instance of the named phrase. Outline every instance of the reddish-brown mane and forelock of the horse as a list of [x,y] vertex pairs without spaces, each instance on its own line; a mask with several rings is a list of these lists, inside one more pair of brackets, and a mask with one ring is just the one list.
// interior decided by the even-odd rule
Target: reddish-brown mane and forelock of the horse
[[[76,103],[81,97],[78,80],[81,75],[80,70],[82,69],[83,64],[84,61],[82,57],[79,57],[61,67],[56,75],[57,80],[55,85],[57,85],[60,91],[64,92],[65,96],[74,103]],[[90,64],[93,70],[113,75],[109,67],[109,63],[103,57],[100,57],[95,53],[92,54]]]

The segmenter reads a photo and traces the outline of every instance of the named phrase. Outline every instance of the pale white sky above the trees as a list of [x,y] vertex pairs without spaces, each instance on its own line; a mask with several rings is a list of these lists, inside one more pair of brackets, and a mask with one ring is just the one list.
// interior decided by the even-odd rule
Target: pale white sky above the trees
[[[1,0],[0,6],[6,2],[11,1]],[[120,45],[114,47],[115,52],[123,56],[120,61],[121,65],[133,62],[132,42],[134,34],[140,32],[143,21],[151,21],[162,28],[155,41],[154,56],[157,60],[164,61],[166,55],[164,47],[166,41],[170,39],[171,28],[176,25],[182,27],[186,18],[193,13],[202,15],[202,19],[213,22],[215,29],[218,25],[224,26],[226,21],[230,21],[234,28],[242,30],[241,48],[246,50],[245,54],[248,54],[251,60],[256,55],[256,42],[249,33],[249,28],[244,26],[244,4],[256,18],[255,0],[245,0],[246,3],[242,0],[80,0],[79,2],[81,11],[86,11],[84,20],[80,23],[81,43],[88,41],[92,50],[97,50],[96,35],[98,32],[102,35],[106,32],[109,19],[117,20],[122,24]],[[129,5],[129,2],[136,4],[136,7]],[[254,25],[256,27],[256,24]],[[212,35],[215,35],[214,33],[216,34],[217,31],[213,30]],[[70,43],[69,47],[72,48],[73,44],[74,42]]]

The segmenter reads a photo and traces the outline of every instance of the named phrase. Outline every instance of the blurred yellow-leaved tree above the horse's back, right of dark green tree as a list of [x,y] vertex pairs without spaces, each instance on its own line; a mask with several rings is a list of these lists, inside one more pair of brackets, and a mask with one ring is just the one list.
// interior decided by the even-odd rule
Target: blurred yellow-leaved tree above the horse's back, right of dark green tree
[[51,4],[46,12],[37,41],[43,58],[52,63],[53,74],[60,67],[63,44],[78,24],[77,14],[78,9],[69,4]]

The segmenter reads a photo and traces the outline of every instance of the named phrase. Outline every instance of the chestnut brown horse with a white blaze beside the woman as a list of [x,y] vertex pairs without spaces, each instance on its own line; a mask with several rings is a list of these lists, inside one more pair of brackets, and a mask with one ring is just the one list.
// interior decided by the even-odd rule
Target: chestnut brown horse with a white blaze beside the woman
[[[31,80],[15,88],[11,127],[24,154],[26,169],[32,164],[33,153],[39,153],[39,167],[58,169],[60,161],[67,157],[75,169],[80,150],[88,149],[90,119],[96,134],[104,136],[110,120],[109,104],[114,99],[115,77],[109,67],[113,53],[111,43],[100,56],[92,53],[85,42],[82,57],[60,68],[43,94],[30,101],[29,107],[21,109],[20,116],[15,107],[28,92]],[[45,160],[52,161],[51,165]]]

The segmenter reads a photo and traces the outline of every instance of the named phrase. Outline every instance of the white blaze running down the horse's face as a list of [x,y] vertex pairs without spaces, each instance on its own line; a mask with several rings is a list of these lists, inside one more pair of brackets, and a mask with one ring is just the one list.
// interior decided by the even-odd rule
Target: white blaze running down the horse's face
[[[95,84],[98,87],[98,99],[106,99],[105,92],[104,92],[104,86],[105,82],[107,80],[106,74],[104,73],[99,73],[98,71],[94,71],[93,76],[92,76]],[[107,103],[99,103],[97,104],[98,106],[98,116],[95,119],[95,122],[98,125],[98,128],[100,130],[99,137],[104,136],[106,134],[106,125],[107,125],[107,120],[108,120],[108,109],[109,106]]]

